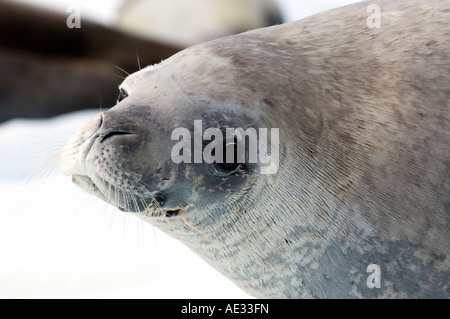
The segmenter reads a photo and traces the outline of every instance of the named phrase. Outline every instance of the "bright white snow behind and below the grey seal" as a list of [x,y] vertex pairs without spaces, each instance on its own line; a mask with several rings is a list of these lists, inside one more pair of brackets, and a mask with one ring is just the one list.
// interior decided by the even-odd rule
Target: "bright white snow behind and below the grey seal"
[[[79,2],[105,24],[119,3]],[[279,2],[294,20],[354,1]],[[58,150],[97,112],[0,125],[0,298],[249,298],[182,243],[59,173]]]

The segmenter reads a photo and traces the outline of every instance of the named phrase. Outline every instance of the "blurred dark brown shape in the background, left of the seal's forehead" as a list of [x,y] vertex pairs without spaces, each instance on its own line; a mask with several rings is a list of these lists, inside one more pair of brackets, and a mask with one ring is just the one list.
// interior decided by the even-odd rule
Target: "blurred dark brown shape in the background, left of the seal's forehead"
[[[49,117],[116,102],[120,77],[180,49],[12,1],[0,9],[0,122]],[[116,76],[117,75],[117,76]]]

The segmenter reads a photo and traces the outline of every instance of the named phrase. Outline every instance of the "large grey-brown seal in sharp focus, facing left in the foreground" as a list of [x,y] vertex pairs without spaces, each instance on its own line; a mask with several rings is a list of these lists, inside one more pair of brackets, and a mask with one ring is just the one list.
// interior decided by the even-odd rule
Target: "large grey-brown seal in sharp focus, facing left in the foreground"
[[[448,298],[450,3],[378,1],[370,28],[371,2],[130,75],[64,147],[62,172],[257,297]],[[172,133],[195,121],[278,128],[278,170],[247,149],[243,163],[175,163]]]

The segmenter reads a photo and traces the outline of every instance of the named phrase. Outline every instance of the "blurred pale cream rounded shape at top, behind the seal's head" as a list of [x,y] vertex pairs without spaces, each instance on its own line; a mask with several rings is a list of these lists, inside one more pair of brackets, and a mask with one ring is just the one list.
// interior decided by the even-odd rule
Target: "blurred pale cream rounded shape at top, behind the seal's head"
[[117,27],[186,47],[281,20],[275,0],[126,0]]

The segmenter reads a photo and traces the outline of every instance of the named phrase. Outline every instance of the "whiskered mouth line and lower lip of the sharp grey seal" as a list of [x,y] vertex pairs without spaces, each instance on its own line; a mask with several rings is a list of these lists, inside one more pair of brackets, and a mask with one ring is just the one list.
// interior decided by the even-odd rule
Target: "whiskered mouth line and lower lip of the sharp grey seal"
[[[184,210],[181,206],[176,207],[163,207],[166,198],[159,192],[156,194],[149,195],[149,191],[145,191],[145,196],[139,190],[129,189],[129,190],[121,190],[120,187],[109,184],[107,181],[102,180],[100,177],[97,179],[101,180],[100,184],[104,184],[101,187],[98,183],[95,183],[94,180],[86,175],[72,175],[72,181],[80,186],[82,189],[85,189],[89,193],[94,194],[100,199],[104,200],[107,203],[112,204],[117,207],[119,210],[123,212],[129,213],[142,213],[151,217],[176,217],[182,213]],[[108,186],[106,186],[108,185]],[[102,191],[102,188],[107,190],[105,194]],[[122,196],[112,196],[112,194],[122,193]]]

